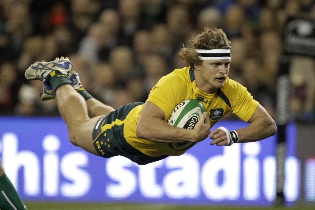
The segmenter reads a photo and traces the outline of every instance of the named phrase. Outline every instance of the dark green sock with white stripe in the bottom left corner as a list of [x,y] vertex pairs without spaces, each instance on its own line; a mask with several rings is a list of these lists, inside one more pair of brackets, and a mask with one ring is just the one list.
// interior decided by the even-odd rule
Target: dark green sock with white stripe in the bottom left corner
[[27,210],[18,192],[5,173],[0,176],[0,209]]

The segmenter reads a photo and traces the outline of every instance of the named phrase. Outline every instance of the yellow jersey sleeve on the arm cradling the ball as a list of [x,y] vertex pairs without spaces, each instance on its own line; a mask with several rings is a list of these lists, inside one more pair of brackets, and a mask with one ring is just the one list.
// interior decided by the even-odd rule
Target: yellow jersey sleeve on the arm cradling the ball
[[187,86],[183,85],[185,83],[183,78],[168,74],[152,88],[146,101],[157,105],[164,112],[165,119],[168,119],[175,106],[185,98],[187,93]]

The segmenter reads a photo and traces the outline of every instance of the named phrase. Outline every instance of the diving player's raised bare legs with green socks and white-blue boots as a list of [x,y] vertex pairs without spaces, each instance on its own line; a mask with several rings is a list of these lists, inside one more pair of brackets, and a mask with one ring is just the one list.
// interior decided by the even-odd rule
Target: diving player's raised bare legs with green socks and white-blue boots
[[[77,88],[69,76],[72,76],[72,63],[63,57],[50,62],[36,62],[25,72],[26,79],[44,82],[42,100],[57,99],[71,143],[98,155],[92,144],[92,131],[99,119],[97,115],[106,115],[113,109],[94,99],[82,88],[80,82],[78,85],[81,86]],[[86,103],[86,100],[89,102]],[[96,117],[90,118],[88,110]]]

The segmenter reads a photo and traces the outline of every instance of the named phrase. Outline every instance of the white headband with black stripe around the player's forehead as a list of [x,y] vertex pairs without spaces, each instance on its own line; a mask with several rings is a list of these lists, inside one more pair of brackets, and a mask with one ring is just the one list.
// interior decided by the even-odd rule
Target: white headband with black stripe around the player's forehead
[[196,49],[201,60],[223,60],[231,59],[230,49]]

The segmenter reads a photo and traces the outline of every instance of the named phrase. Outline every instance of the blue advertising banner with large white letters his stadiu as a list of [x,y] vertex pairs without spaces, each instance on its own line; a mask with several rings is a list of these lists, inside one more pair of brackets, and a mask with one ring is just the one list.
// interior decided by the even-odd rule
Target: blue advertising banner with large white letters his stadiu
[[[215,128],[245,127],[220,121]],[[296,127],[289,124],[284,194],[300,196]],[[92,141],[92,139],[91,139]],[[259,142],[196,144],[182,156],[139,166],[101,158],[72,145],[60,117],[0,117],[0,156],[24,201],[163,202],[271,205],[276,198],[276,136]]]

